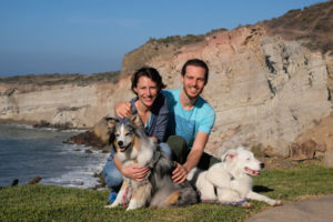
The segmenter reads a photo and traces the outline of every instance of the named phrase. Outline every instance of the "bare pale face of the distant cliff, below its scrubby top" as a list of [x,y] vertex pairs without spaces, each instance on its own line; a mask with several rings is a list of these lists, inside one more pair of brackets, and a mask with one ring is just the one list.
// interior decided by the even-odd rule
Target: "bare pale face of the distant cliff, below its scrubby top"
[[53,125],[91,128],[109,114],[117,87],[112,83],[85,87],[1,84],[0,120],[28,124],[46,121]]

